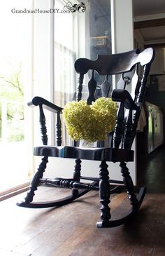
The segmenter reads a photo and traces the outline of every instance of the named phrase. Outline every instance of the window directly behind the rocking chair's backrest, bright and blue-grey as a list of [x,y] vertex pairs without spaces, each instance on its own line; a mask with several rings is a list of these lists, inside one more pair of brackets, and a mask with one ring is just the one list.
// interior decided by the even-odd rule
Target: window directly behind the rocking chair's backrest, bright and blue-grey
[[[74,71],[74,62],[78,58],[96,60],[98,54],[111,53],[110,1],[67,2],[55,0],[54,15],[54,62],[55,83],[54,101],[64,107],[67,102],[76,99],[78,75]],[[104,79],[104,78],[103,78]],[[83,86],[82,97],[87,96],[87,81]],[[98,81],[101,84],[103,81]],[[64,124],[63,124],[64,127]],[[67,135],[68,143],[70,143]]]

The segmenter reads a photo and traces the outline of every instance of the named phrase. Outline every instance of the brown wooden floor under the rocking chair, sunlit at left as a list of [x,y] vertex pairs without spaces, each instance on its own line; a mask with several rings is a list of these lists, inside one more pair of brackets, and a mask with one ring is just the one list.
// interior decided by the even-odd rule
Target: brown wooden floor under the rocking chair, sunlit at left
[[[27,209],[15,206],[23,194],[0,203],[1,256],[164,256],[165,255],[165,149],[143,170],[139,183],[148,193],[138,216],[127,225],[97,229],[99,197],[89,192],[62,208]],[[59,189],[42,187],[48,200]],[[57,192],[55,192],[57,191]],[[63,194],[67,192],[64,189]],[[122,204],[121,204],[122,201]],[[112,215],[124,213],[128,203],[123,195],[111,198]],[[120,208],[118,208],[120,206]]]

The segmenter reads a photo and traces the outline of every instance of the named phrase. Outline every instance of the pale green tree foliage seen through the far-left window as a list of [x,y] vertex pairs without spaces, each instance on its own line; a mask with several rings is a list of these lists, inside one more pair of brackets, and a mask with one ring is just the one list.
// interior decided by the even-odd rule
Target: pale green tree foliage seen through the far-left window
[[[0,74],[0,140],[2,122],[6,122],[8,142],[24,140],[24,93],[21,81],[21,68],[10,76]],[[5,110],[4,110],[5,109]],[[6,120],[2,120],[5,112]]]

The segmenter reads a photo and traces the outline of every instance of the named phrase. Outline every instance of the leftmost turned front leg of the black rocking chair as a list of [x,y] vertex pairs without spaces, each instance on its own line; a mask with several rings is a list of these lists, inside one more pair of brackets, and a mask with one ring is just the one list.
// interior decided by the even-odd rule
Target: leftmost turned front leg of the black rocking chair
[[24,198],[26,203],[31,203],[33,201],[34,191],[37,190],[37,187],[40,184],[40,179],[43,177],[47,163],[48,156],[44,156],[38,167],[38,171],[35,173],[34,178],[31,181],[30,190],[27,192],[27,196]]

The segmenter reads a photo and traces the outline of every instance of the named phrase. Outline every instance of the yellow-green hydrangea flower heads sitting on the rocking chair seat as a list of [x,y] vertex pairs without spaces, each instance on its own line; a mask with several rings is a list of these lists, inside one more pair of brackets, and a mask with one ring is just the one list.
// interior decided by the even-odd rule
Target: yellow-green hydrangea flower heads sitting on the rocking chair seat
[[92,105],[85,100],[69,102],[62,116],[66,130],[73,140],[95,142],[105,140],[115,127],[117,103],[110,98],[100,97]]

